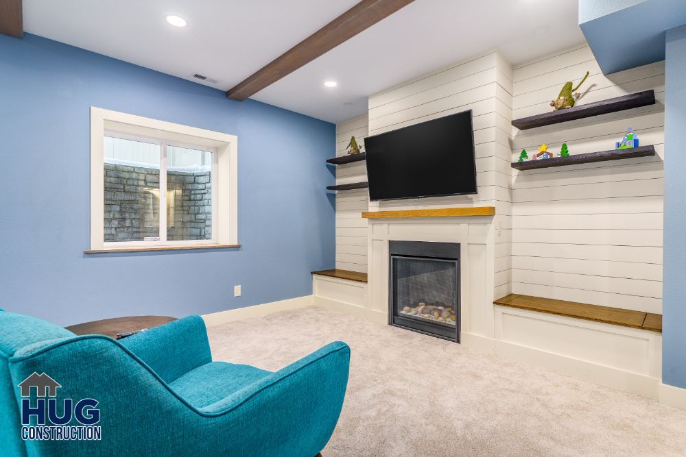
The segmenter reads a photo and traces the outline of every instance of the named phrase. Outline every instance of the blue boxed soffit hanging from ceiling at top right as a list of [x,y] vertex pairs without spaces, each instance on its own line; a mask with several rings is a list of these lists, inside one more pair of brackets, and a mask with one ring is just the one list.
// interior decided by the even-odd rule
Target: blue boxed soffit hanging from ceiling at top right
[[686,24],[686,0],[579,0],[579,21],[607,75],[665,60],[665,30]]

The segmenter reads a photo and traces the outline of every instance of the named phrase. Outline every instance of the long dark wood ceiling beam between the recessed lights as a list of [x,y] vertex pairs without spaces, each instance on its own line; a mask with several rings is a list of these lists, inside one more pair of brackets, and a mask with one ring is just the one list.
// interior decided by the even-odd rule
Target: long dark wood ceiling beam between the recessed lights
[[226,92],[226,97],[245,100],[279,81],[301,66],[331,51],[414,0],[362,0],[350,10],[311,34],[270,64]]

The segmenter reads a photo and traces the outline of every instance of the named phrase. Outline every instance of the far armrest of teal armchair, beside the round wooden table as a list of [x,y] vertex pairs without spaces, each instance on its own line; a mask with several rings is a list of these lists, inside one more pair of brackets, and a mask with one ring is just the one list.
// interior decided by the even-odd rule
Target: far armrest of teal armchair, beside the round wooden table
[[119,340],[163,381],[212,361],[207,330],[200,316],[188,316]]

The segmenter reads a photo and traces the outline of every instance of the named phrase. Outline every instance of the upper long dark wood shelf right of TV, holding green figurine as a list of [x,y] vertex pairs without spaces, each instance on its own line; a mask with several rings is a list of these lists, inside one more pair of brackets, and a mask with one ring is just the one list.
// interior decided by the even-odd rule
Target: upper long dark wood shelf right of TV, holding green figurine
[[514,121],[512,121],[512,125],[520,130],[526,130],[534,127],[543,127],[543,125],[575,121],[576,119],[600,116],[600,114],[630,110],[631,108],[638,108],[639,106],[648,106],[654,104],[655,92],[653,90],[643,90],[643,92],[622,95],[622,97],[615,97],[613,99],[577,105],[574,108],[567,108],[567,110],[547,112],[544,114],[536,114],[536,116],[514,119]]

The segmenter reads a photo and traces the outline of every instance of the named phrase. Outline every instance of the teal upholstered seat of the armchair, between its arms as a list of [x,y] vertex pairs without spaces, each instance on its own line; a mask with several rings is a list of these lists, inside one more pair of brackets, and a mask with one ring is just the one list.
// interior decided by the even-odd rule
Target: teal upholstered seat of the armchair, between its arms
[[189,404],[202,408],[272,374],[250,365],[211,362],[171,382],[169,387]]

